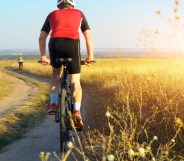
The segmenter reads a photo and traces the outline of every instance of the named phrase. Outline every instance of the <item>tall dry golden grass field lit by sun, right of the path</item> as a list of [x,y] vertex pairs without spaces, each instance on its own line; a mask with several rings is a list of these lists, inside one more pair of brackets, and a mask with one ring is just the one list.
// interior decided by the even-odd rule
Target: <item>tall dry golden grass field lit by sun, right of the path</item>
[[[183,64],[179,59],[102,59],[82,67],[82,85],[90,95],[86,157],[184,160]],[[38,75],[51,73],[36,61],[24,67]]]

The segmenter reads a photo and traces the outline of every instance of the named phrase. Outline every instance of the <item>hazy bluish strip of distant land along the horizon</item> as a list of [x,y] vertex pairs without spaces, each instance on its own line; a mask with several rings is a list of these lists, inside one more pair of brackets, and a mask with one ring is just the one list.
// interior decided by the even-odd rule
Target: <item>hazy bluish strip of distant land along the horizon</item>
[[[24,59],[39,59],[40,52],[38,49],[0,49],[0,60],[1,59],[17,59],[19,54],[22,54]],[[49,57],[49,53],[47,51]],[[86,55],[86,50],[81,50],[81,55],[84,57]],[[184,52],[182,51],[153,51],[153,50],[143,50],[143,49],[133,49],[133,48],[123,48],[123,49],[96,49],[94,50],[95,59],[98,58],[144,58],[144,57],[157,57],[157,58],[183,58]]]

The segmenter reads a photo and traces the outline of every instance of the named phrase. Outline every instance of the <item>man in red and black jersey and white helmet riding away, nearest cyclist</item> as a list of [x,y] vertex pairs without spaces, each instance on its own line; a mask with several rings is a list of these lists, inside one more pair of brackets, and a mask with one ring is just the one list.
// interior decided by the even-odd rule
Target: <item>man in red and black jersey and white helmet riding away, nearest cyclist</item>
[[[80,114],[82,88],[80,84],[81,55],[79,29],[81,29],[86,41],[86,62],[94,60],[92,34],[82,11],[75,9],[74,0],[58,0],[58,10],[51,12],[43,24],[39,37],[41,61],[43,64],[51,63],[53,73],[50,81],[50,106],[48,114],[57,111],[57,90],[61,73],[61,65],[57,58],[72,58],[68,70],[72,85],[73,116],[80,120],[78,127],[83,127]],[[46,39],[51,32],[49,40],[50,60],[46,57]]]

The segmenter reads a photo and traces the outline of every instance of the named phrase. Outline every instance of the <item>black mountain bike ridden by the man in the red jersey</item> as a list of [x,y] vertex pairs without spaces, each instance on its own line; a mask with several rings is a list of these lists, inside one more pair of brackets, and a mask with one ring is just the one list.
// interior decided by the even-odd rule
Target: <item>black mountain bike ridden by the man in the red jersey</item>
[[[62,77],[60,79],[60,85],[58,90],[58,108],[55,115],[55,122],[60,126],[60,151],[61,153],[67,151],[67,142],[70,140],[70,130],[82,131],[82,128],[76,128],[73,123],[77,123],[77,120],[73,120],[72,113],[72,96],[71,85],[69,81],[69,73],[67,65],[72,62],[71,58],[60,58],[56,60],[63,66]],[[96,61],[81,61],[81,65],[88,65],[95,63]],[[44,62],[39,61],[44,64]],[[46,64],[44,64],[46,65]]]

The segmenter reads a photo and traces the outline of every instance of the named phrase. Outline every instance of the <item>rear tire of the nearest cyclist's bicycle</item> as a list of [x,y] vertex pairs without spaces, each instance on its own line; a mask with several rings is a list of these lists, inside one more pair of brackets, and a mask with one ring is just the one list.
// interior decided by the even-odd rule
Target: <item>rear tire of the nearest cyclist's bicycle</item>
[[66,90],[61,90],[61,111],[60,111],[60,150],[61,153],[66,152],[66,144],[69,140],[69,130],[66,126]]

